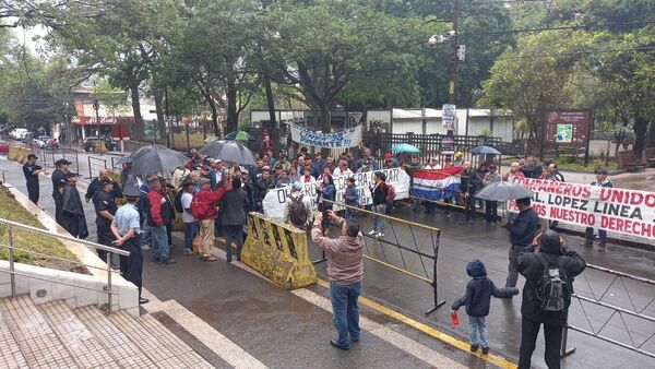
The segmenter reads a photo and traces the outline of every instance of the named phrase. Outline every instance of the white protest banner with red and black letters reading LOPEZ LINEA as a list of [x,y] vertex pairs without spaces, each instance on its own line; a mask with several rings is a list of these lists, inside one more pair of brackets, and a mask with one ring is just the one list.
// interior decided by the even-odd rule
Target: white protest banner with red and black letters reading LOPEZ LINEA
[[[655,240],[655,193],[581,183],[516,178],[531,189],[533,209],[543,218]],[[517,212],[514,201],[508,210]]]

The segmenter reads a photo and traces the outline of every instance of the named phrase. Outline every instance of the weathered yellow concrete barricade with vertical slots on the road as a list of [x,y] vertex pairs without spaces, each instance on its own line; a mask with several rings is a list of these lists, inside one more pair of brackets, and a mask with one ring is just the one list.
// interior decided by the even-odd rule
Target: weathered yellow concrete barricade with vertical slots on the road
[[248,216],[248,238],[241,260],[286,289],[302,288],[319,281],[309,260],[305,230],[263,214]]

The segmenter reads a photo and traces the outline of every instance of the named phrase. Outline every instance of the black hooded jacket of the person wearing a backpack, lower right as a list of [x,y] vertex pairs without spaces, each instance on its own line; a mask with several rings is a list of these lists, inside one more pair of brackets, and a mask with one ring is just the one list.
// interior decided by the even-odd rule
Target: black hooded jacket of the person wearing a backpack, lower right
[[[584,259],[575,251],[568,248],[560,248],[559,234],[553,230],[546,230],[541,235],[540,243],[541,247],[538,252],[545,257],[549,266],[558,265],[560,258],[564,258],[562,271],[567,274],[571,293],[573,293],[574,277],[580,275],[586,267]],[[563,311],[550,312],[543,311],[536,298],[537,284],[544,275],[544,266],[534,252],[534,246],[525,248],[525,252],[519,255],[516,269],[526,279],[523,286],[523,300],[521,302],[521,313],[523,317],[544,324],[563,326],[567,323],[571,301],[565,301],[567,305]]]

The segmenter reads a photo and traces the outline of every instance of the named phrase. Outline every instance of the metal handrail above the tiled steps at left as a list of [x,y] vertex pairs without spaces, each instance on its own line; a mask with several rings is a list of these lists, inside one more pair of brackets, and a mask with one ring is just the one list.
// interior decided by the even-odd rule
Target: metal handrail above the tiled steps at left
[[[56,233],[51,233],[45,229],[40,229],[40,228],[36,228],[36,227],[32,227],[32,226],[27,226],[24,224],[20,224],[13,221],[8,221],[8,219],[2,219],[0,218],[0,226],[7,226],[8,230],[7,230],[7,243],[8,245],[2,245],[0,243],[0,247],[8,249],[8,260],[9,260],[9,274],[10,274],[10,285],[11,285],[11,296],[12,297],[16,297],[16,281],[15,281],[15,276],[23,276],[23,277],[27,277],[27,278],[34,278],[34,279],[40,279],[40,281],[47,281],[50,283],[58,283],[61,285],[67,285],[67,286],[71,286],[71,287],[76,287],[76,288],[82,288],[82,289],[88,289],[88,290],[95,290],[97,293],[106,293],[107,294],[107,313],[110,314],[111,313],[111,302],[112,302],[112,295],[118,295],[118,293],[115,293],[112,289],[112,282],[111,282],[111,275],[112,273],[116,273],[111,270],[111,254],[116,253],[119,255],[123,255],[123,257],[129,257],[130,252],[124,251],[124,250],[120,250],[120,249],[116,249],[112,247],[108,247],[108,246],[104,246],[104,245],[99,245],[99,243],[94,243],[94,242],[90,242],[90,241],[85,241],[82,239],[78,239],[71,236],[62,236]],[[80,263],[80,262],[74,262],[68,259],[63,259],[63,258],[58,258],[58,257],[52,257],[52,255],[48,255],[45,253],[40,253],[40,252],[36,252],[33,250],[26,250],[26,249],[22,249],[22,248],[16,248],[14,245],[14,229],[24,229],[24,230],[28,230],[31,233],[35,233],[35,234],[40,234],[40,235],[47,235],[47,236],[51,236],[55,237],[57,239],[62,239],[62,240],[67,240],[67,241],[71,241],[71,242],[78,242],[78,243],[82,243],[84,246],[87,247],[92,247],[93,249],[96,250],[104,250],[107,251],[107,267],[99,267],[99,266],[95,266],[95,265],[90,265],[90,264],[84,264],[84,263]],[[53,279],[45,279],[45,278],[40,278],[34,275],[28,275],[28,274],[23,274],[23,273],[19,273],[15,271],[15,265],[14,265],[14,253],[15,251],[21,251],[21,252],[26,252],[26,253],[31,253],[31,254],[35,254],[35,255],[39,255],[39,257],[45,257],[45,258],[49,258],[49,259],[53,259],[53,260],[59,260],[59,261],[64,261],[64,262],[70,262],[72,264],[72,266],[84,266],[84,267],[91,267],[91,269],[97,269],[97,270],[103,270],[107,272],[107,286],[103,289],[96,289],[96,288],[91,288],[91,287],[84,287],[84,286],[78,286],[78,285],[73,285],[73,284],[68,284],[64,282],[58,282],[58,281],[53,281]],[[4,271],[0,271],[3,273],[7,273]]]

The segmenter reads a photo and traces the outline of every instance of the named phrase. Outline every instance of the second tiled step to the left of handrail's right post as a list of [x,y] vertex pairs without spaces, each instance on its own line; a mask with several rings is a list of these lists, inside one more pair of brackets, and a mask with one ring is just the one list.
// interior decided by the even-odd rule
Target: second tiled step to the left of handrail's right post
[[38,310],[81,368],[119,367],[109,350],[63,300],[39,305]]

